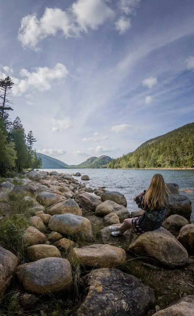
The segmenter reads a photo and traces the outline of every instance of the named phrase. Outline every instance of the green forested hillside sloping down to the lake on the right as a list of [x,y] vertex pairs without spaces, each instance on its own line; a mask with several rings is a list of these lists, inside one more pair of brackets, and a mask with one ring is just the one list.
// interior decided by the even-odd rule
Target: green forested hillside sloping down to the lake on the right
[[181,167],[194,167],[194,123],[150,139],[108,165],[113,169]]

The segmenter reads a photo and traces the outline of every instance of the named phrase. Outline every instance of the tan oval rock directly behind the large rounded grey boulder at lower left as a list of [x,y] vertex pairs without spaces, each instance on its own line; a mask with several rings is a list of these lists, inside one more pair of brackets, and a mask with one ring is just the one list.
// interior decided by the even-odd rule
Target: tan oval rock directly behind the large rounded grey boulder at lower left
[[61,253],[55,246],[34,245],[27,248],[28,257],[31,261],[37,261],[42,258],[57,257],[61,258]]

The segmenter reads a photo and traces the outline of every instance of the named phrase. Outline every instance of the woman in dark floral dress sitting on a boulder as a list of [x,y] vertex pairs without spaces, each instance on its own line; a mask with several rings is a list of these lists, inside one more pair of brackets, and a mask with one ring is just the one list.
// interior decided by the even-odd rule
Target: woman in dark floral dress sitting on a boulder
[[137,235],[160,228],[166,215],[169,190],[161,174],[155,174],[149,188],[134,197],[138,207],[145,210],[141,217],[127,218],[118,226],[110,226],[113,236],[132,228]]

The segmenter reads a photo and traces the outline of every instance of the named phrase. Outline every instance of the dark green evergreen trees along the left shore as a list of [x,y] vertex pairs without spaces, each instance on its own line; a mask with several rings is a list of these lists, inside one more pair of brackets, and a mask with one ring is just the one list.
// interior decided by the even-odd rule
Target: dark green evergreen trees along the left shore
[[36,139],[33,132],[25,134],[21,119],[16,117],[12,122],[9,112],[11,89],[14,82],[10,77],[0,79],[0,177],[12,177],[23,169],[40,168],[42,161],[36,155],[33,145]]

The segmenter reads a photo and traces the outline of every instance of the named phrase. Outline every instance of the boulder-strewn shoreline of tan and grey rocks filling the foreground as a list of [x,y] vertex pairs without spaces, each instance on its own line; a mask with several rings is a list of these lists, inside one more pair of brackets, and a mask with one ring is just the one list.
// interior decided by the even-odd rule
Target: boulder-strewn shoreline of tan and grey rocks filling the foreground
[[0,184],[0,225],[15,216],[11,201],[28,205],[18,213],[28,222],[25,255],[0,246],[0,310],[9,315],[6,299],[15,293],[17,315],[193,315],[194,225],[191,202],[178,185],[167,184],[163,227],[113,237],[109,225],[143,211],[130,212],[119,192],[87,186],[87,175],[80,180],[34,171]]

